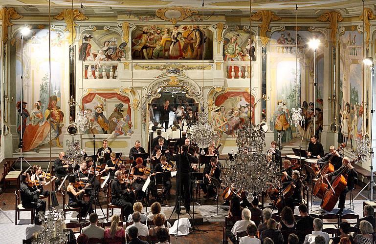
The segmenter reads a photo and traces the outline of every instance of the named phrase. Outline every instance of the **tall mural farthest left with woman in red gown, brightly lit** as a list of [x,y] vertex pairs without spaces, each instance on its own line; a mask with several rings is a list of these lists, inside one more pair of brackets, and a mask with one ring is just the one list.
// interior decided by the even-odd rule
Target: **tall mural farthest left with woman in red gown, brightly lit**
[[[23,150],[39,152],[44,147],[63,147],[66,101],[64,81],[69,70],[69,49],[63,32],[51,32],[51,87],[49,87],[48,30],[31,30],[16,43],[17,133],[23,132]],[[48,49],[47,49],[48,50]],[[23,102],[21,102],[21,64],[23,54]],[[21,117],[21,114],[23,115]],[[51,119],[51,123],[49,123]],[[22,124],[22,126],[21,126]]]

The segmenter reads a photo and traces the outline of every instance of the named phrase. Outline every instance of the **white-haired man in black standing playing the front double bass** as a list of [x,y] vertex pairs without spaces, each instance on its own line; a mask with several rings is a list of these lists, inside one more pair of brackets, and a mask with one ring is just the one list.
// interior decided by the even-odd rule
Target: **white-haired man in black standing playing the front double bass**
[[330,174],[324,175],[324,177],[330,177],[330,176],[336,177],[346,167],[348,167],[348,169],[349,169],[347,171],[347,185],[346,185],[346,188],[341,192],[341,195],[339,195],[339,201],[338,201],[339,210],[336,214],[342,214],[343,213],[343,208],[345,206],[345,201],[346,201],[346,194],[350,191],[350,189],[354,188],[354,178],[358,177],[358,173],[354,169],[353,165],[351,165],[350,159],[348,157],[344,157],[342,159],[342,166],[339,169],[337,169],[336,171],[334,171]]

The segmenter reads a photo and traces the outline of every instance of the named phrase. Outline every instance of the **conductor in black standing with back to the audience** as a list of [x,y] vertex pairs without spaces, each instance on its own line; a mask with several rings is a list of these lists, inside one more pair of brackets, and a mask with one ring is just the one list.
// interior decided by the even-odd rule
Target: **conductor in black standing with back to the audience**
[[[184,206],[185,211],[189,212],[191,209],[191,194],[190,194],[190,187],[191,187],[191,164],[192,163],[199,163],[199,159],[197,157],[197,153],[189,155],[188,154],[188,146],[182,145],[180,148],[180,154],[174,155],[171,159],[175,161],[177,166],[177,196],[184,197]],[[178,198],[176,199],[176,208],[175,212],[180,213],[180,205],[178,205]]]

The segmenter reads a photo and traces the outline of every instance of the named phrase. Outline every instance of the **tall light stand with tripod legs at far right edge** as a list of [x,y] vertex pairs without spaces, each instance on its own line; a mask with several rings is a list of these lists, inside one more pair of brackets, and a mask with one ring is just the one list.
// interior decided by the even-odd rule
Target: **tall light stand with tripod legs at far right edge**
[[[373,115],[374,115],[374,112],[375,110],[373,109],[374,107],[374,77],[375,77],[375,72],[374,72],[374,59],[371,58],[371,57],[367,57],[365,60],[369,60],[371,62],[372,60],[372,64],[370,66],[370,70],[371,70],[371,125],[373,125]],[[364,61],[365,61],[364,60]],[[376,186],[376,183],[374,182],[374,167],[373,167],[373,164],[374,164],[374,151],[373,151],[373,147],[372,147],[372,140],[373,140],[373,130],[374,128],[372,128],[371,130],[371,142],[370,142],[370,159],[371,159],[371,165],[370,165],[370,181],[366,184],[366,186],[363,187],[363,189],[360,190],[360,192],[354,197],[354,199],[356,199],[359,195],[361,195],[362,197],[366,198],[365,196],[363,196],[361,193],[367,188],[367,187],[370,187],[370,191],[368,194],[371,195],[371,198],[370,200],[371,201],[374,201],[374,186]],[[366,198],[368,199],[368,198]]]

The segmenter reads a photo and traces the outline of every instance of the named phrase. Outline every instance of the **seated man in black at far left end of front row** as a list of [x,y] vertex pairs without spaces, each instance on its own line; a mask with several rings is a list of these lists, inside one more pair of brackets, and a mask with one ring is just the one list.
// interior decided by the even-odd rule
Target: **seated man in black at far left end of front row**
[[37,215],[39,211],[45,212],[45,201],[38,199],[41,190],[35,190],[30,187],[28,183],[30,182],[30,175],[28,173],[23,173],[21,177],[22,183],[20,186],[22,207],[24,208],[34,208],[35,214]]

